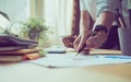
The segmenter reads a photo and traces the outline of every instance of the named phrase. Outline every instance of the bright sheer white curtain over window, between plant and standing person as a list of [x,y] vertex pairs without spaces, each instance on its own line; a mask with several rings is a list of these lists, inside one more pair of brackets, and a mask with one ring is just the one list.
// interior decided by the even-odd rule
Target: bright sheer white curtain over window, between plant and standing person
[[55,43],[60,45],[60,36],[70,34],[72,23],[72,3],[73,0],[45,0],[44,16],[46,24],[53,32],[53,35],[50,35],[51,44]]

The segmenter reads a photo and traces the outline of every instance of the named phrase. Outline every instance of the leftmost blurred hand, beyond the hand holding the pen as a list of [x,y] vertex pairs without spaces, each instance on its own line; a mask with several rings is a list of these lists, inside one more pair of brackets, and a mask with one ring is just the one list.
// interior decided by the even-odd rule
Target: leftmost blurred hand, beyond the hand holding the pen
[[73,42],[75,38],[76,38],[76,35],[75,36],[73,36],[73,35],[64,36],[62,38],[62,43],[64,44],[66,47],[73,48]]

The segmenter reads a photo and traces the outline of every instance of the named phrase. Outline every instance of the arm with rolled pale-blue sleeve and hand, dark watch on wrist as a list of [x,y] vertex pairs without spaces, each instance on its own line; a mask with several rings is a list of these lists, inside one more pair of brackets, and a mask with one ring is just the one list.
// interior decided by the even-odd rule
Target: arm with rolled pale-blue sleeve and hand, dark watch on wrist
[[[96,30],[97,25],[103,25],[105,28],[109,30],[115,21],[116,9],[121,8],[120,0],[97,0],[97,20],[93,27]],[[121,10],[121,9],[120,9]],[[86,40],[88,48],[98,48],[107,39],[108,33],[105,31],[98,31],[95,36],[91,36]]]

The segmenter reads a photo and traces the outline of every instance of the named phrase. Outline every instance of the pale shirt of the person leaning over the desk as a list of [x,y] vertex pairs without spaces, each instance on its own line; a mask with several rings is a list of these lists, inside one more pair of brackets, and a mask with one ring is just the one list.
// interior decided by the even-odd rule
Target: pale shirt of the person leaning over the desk
[[[129,0],[122,1],[122,13],[127,25],[129,26]],[[96,21],[97,15],[104,11],[116,13],[116,9],[121,9],[119,0],[80,0],[80,9],[87,10],[91,17]]]

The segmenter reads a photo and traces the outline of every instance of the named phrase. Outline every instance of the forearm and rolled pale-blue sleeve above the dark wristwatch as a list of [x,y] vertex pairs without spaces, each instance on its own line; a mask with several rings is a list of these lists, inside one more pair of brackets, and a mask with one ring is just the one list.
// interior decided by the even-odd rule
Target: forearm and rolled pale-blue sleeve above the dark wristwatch
[[[96,0],[97,3],[97,20],[95,25],[104,25],[108,30],[115,20],[117,9],[121,10],[121,0]],[[95,28],[94,25],[94,28]],[[93,30],[94,30],[93,28]]]

